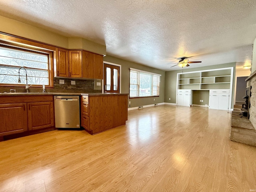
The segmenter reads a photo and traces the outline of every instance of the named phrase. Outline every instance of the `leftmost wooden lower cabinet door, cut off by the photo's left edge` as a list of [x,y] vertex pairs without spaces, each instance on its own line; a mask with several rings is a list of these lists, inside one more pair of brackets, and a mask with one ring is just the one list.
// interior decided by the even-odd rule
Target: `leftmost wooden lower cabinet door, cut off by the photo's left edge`
[[26,103],[0,104],[0,136],[28,130]]

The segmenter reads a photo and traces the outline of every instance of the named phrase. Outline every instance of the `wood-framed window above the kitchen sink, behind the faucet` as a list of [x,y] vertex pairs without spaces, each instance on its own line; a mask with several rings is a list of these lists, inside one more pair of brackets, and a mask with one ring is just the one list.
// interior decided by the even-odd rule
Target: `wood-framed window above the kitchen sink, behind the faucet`
[[[49,85],[49,54],[0,46],[0,85],[20,85],[17,81],[19,68],[22,66],[26,68],[28,84]],[[26,84],[26,72],[20,70],[21,84]]]

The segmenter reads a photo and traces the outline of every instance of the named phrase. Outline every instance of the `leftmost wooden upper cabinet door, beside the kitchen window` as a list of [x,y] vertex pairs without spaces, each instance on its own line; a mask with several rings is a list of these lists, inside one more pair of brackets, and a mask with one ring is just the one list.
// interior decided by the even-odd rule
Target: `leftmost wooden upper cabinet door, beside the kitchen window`
[[56,76],[68,77],[68,50],[56,48]]

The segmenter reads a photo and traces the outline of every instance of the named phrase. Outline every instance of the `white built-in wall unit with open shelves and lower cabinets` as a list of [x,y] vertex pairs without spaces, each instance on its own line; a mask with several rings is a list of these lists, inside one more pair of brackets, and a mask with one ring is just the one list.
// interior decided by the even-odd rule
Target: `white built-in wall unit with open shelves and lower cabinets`
[[[193,90],[209,90],[210,109],[232,110],[233,73],[234,67],[177,73],[177,105],[191,106]],[[185,96],[185,90],[189,95]]]

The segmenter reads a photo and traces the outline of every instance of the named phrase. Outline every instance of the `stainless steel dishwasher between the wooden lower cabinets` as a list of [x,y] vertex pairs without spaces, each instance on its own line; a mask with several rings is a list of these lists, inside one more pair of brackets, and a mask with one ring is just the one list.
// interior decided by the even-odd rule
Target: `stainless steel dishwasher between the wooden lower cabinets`
[[56,128],[80,128],[79,96],[54,96]]

